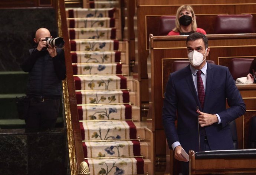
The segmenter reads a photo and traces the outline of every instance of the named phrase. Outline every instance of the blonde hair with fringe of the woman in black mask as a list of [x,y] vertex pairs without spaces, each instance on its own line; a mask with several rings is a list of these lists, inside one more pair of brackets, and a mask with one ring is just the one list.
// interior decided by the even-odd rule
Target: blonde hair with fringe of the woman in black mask
[[173,31],[175,32],[181,32],[181,26],[180,26],[180,22],[179,22],[179,16],[180,16],[180,12],[183,11],[183,10],[187,10],[187,11],[190,11],[191,14],[192,14],[192,31],[193,32],[196,32],[197,30],[197,24],[196,24],[196,15],[194,13],[194,10],[191,6],[188,6],[188,5],[183,5],[183,6],[180,6],[177,10],[177,13],[176,13],[176,20],[175,20],[175,25],[176,27],[173,29]]

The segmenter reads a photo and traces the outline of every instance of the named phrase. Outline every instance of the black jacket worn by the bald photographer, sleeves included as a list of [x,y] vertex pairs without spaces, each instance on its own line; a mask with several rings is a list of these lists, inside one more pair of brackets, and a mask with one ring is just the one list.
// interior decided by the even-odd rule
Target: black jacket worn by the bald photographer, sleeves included
[[28,96],[59,98],[61,80],[66,78],[65,58],[63,49],[57,49],[57,55],[51,57],[48,51],[30,49],[29,56],[21,66],[29,72],[27,83]]

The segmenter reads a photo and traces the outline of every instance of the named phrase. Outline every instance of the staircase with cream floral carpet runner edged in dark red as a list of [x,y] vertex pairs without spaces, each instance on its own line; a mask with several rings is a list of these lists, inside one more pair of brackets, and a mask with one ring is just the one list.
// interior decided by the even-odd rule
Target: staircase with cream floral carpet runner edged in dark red
[[88,7],[66,8],[85,161],[91,175],[153,174],[151,132],[140,118],[139,83],[129,76],[119,1]]

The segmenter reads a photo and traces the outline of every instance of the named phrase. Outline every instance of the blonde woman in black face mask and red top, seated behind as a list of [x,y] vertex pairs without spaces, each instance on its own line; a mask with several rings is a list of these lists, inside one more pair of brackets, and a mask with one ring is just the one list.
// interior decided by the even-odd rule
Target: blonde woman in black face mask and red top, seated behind
[[168,35],[190,35],[193,32],[199,32],[206,35],[206,31],[197,28],[196,16],[191,6],[180,6],[176,14],[176,27]]

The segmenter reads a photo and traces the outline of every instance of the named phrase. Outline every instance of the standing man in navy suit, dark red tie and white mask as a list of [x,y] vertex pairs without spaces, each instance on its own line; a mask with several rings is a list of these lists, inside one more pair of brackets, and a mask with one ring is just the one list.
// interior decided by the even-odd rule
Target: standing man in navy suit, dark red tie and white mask
[[245,104],[229,69],[207,64],[209,51],[204,34],[189,35],[190,65],[171,73],[166,86],[163,126],[169,148],[182,163],[183,175],[188,174],[188,162],[181,155],[181,149],[186,152],[234,149],[229,123],[245,112]]

